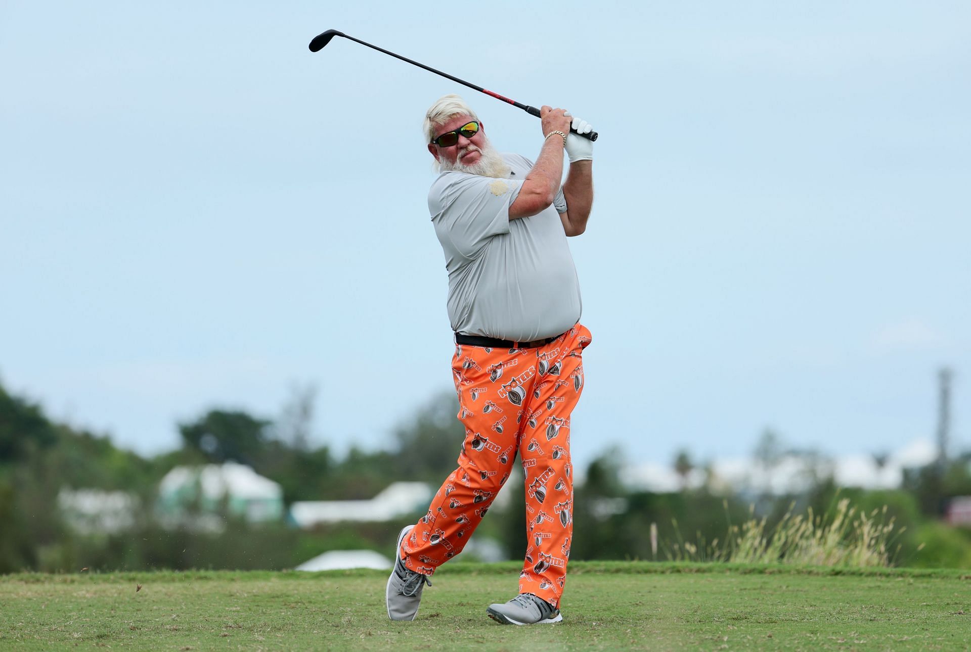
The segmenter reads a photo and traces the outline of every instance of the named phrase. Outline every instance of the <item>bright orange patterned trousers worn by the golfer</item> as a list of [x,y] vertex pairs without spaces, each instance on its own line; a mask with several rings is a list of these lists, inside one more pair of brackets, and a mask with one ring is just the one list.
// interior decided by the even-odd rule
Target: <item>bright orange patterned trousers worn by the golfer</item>
[[461,552],[519,452],[528,534],[519,593],[559,604],[573,536],[570,413],[583,391],[589,343],[590,332],[577,324],[536,348],[455,347],[452,375],[465,441],[458,468],[402,543],[409,569],[430,575]]

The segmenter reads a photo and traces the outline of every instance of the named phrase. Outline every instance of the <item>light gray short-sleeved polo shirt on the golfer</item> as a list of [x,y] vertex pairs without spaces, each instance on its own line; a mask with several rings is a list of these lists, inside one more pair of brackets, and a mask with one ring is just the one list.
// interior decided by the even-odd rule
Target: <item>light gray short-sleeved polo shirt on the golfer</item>
[[509,219],[532,162],[503,158],[509,179],[443,172],[428,192],[428,211],[445,251],[452,330],[526,342],[566,331],[580,320],[580,283],[559,212]]

